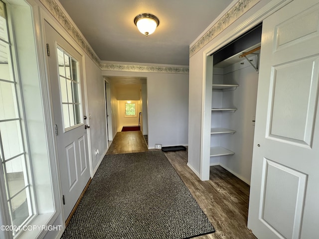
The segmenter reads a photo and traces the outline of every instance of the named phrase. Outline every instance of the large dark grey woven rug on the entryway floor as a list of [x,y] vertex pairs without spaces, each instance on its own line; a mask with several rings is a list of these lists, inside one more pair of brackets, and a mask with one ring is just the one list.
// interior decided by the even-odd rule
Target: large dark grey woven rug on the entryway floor
[[161,151],[106,155],[62,239],[183,239],[215,232]]

